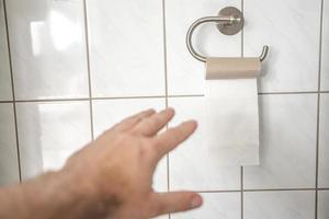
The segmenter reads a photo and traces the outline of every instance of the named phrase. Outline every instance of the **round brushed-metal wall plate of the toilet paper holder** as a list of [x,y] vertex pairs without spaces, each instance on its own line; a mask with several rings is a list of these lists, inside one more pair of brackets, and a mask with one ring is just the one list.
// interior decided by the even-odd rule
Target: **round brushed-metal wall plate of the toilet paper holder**
[[230,18],[229,22],[217,23],[217,28],[225,35],[239,33],[245,25],[243,13],[235,7],[226,7],[218,13],[219,18]]

